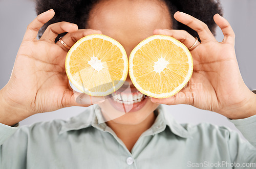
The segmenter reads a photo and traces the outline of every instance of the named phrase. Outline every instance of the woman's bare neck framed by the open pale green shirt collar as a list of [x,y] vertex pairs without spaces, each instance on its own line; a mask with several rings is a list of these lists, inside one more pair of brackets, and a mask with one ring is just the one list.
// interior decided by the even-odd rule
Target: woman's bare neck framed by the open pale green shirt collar
[[140,135],[154,124],[155,119],[155,114],[152,112],[139,124],[120,124],[113,120],[106,122],[106,124],[116,133],[127,149],[131,152]]

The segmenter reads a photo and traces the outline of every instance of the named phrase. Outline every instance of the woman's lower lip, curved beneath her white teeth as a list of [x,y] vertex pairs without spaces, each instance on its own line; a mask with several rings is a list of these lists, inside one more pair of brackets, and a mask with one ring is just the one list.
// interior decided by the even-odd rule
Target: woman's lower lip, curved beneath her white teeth
[[[145,97],[145,95],[143,95],[143,97]],[[110,104],[118,111],[121,112],[134,112],[134,111],[139,111],[145,104],[146,101],[148,100],[148,97],[145,97],[142,101],[137,102],[137,103],[133,103],[133,104],[124,104],[124,103],[118,103],[116,101],[114,101],[112,98],[109,99],[110,100]],[[130,111],[126,111],[126,109],[131,110]]]

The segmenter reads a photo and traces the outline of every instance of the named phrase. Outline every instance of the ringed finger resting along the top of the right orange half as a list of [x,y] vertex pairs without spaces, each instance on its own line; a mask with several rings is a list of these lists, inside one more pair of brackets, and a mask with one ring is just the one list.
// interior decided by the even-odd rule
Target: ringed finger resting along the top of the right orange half
[[[180,41],[181,43],[183,43],[187,48],[190,48],[191,46],[193,46],[195,44],[195,41],[196,41],[195,37],[193,37],[192,35],[190,35],[188,32],[186,32],[184,30],[161,30],[161,29],[157,29],[157,30],[154,30],[153,34],[154,35],[171,36],[171,37],[177,39],[178,41]],[[197,42],[197,44],[193,47],[193,49],[195,49],[199,44],[200,44],[200,42]],[[193,49],[191,49],[191,50],[193,50]]]

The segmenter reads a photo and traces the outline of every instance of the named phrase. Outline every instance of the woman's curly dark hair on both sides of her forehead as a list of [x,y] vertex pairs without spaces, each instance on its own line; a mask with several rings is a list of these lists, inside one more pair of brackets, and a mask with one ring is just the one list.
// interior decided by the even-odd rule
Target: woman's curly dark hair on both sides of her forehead
[[[102,0],[36,0],[36,12],[39,15],[49,9],[55,11],[55,16],[47,22],[38,33],[38,37],[45,32],[48,25],[60,21],[67,21],[76,23],[79,29],[87,29],[85,23],[89,18],[91,9],[98,2]],[[217,13],[222,15],[222,7],[219,0],[161,0],[165,2],[169,9],[173,21],[173,29],[185,30],[192,36],[198,37],[196,31],[190,29],[190,27],[178,22],[174,19],[174,13],[176,11],[185,12],[191,16],[198,18],[199,20],[206,23],[212,34],[215,35],[216,23],[214,22],[213,16]],[[63,33],[59,35],[55,42],[60,36],[65,35]],[[200,39],[199,39],[200,40]]]

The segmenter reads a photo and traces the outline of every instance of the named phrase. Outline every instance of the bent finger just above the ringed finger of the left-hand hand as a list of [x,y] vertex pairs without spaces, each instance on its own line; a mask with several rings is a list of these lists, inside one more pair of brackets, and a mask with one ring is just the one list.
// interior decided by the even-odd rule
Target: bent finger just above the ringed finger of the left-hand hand
[[54,43],[56,37],[59,34],[62,34],[65,32],[72,33],[72,32],[76,32],[77,30],[78,30],[78,26],[74,23],[69,23],[64,21],[53,23],[47,27],[45,33],[42,34],[40,40]]

